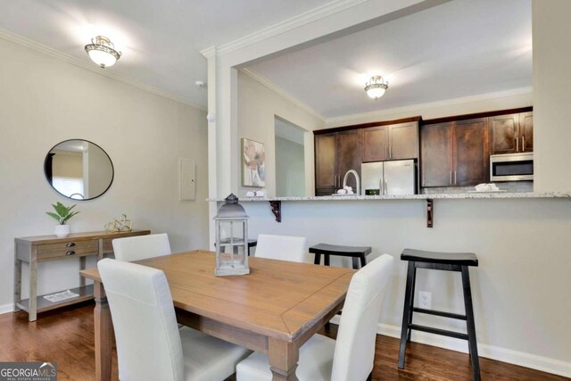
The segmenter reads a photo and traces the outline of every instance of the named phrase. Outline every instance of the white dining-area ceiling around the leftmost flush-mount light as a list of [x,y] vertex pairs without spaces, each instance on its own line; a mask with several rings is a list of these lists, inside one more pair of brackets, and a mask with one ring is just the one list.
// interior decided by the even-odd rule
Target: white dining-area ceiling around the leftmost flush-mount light
[[244,37],[331,0],[3,0],[0,29],[90,62],[84,46],[110,37],[114,73],[206,105],[204,48]]

